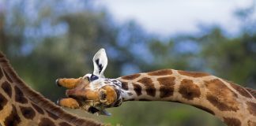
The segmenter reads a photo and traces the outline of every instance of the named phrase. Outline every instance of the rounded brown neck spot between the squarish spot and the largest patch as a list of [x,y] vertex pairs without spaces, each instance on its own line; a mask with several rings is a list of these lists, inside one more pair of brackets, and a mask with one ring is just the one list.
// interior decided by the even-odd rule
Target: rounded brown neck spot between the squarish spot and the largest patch
[[192,80],[182,80],[179,87],[179,93],[183,95],[183,98],[193,100],[199,98],[201,95],[198,85],[194,84]]

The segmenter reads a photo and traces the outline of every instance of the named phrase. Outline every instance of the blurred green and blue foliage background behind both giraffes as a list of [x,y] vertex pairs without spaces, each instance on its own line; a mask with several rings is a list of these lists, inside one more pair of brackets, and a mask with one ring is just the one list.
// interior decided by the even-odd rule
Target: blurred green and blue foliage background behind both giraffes
[[[65,0],[4,3],[0,49],[25,82],[54,102],[65,97],[65,89],[55,86],[55,80],[92,72],[93,54],[101,47],[109,58],[107,77],[183,69],[210,72],[256,88],[254,6],[236,12],[244,22],[239,35],[228,36],[220,27],[206,26],[197,34],[160,39],[134,21],[116,23],[107,10],[95,9],[90,1],[77,5]],[[126,102],[109,109],[111,117],[68,111],[122,125],[224,125],[200,109],[172,102]]]

